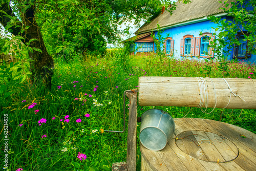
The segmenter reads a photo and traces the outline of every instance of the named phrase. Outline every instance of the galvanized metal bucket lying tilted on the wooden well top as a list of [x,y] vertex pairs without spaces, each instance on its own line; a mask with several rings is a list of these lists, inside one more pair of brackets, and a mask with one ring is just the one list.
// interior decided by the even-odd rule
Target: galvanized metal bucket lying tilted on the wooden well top
[[152,151],[163,149],[174,131],[174,119],[167,112],[151,109],[141,116],[140,142]]

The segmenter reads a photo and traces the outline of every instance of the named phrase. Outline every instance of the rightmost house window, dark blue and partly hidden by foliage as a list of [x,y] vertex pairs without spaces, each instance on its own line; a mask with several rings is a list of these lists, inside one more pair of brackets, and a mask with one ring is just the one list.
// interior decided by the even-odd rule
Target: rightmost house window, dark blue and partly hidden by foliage
[[[249,36],[249,34],[244,33],[245,35]],[[251,53],[248,52],[248,40],[244,40],[243,33],[238,33],[236,35],[237,40],[239,41],[240,45],[235,45],[234,46],[234,58],[238,58],[238,59],[244,59],[244,58],[249,58],[251,57]]]

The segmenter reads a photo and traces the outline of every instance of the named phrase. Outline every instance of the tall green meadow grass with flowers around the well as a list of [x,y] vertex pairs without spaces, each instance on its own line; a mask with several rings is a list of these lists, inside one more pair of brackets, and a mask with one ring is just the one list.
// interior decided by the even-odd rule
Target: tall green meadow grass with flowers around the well
[[[136,89],[141,76],[255,79],[255,66],[249,63],[176,60],[153,54],[129,56],[122,51],[113,54],[106,54],[105,57],[77,55],[68,63],[56,58],[50,91],[40,84],[31,84],[29,79],[18,83],[13,75],[19,73],[11,66],[7,66],[7,69],[11,68],[13,73],[9,71],[8,74],[7,69],[2,69],[1,73],[6,76],[0,78],[0,121],[4,126],[4,115],[8,114],[9,170],[111,170],[113,162],[126,161],[127,130],[123,134],[101,133],[100,130],[122,130],[122,94],[125,90]],[[27,66],[25,61],[22,64]],[[58,86],[61,88],[58,89]],[[128,101],[126,99],[126,113]],[[36,105],[28,109],[33,102]],[[152,108],[154,106],[138,106],[138,115]],[[155,108],[168,112],[173,118],[213,119],[256,133],[255,110],[215,109],[211,114],[206,114],[197,108]],[[35,114],[35,110],[39,112]],[[85,114],[90,114],[90,117]],[[64,122],[67,115],[70,121]],[[41,118],[47,121],[39,126]],[[78,123],[76,120],[79,118],[81,122]],[[1,149],[5,149],[4,131],[1,131]],[[47,137],[42,138],[43,135]],[[85,154],[86,160],[80,161],[78,152]],[[139,170],[139,146],[137,153]],[[4,155],[2,151],[1,158]]]

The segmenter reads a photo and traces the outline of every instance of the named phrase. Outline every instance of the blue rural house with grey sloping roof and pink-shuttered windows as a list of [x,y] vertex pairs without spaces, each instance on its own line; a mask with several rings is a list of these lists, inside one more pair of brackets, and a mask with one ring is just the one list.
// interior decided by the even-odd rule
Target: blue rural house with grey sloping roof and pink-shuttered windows
[[[236,2],[235,0],[229,0]],[[215,39],[212,33],[215,33],[217,24],[207,19],[207,16],[214,15],[226,19],[225,22],[232,21],[232,17],[227,16],[220,8],[223,5],[218,0],[193,0],[189,4],[177,2],[176,10],[173,15],[165,10],[157,17],[151,20],[151,23],[145,23],[139,28],[136,36],[124,40],[125,42],[135,42],[131,44],[131,51],[135,54],[154,52],[156,53],[156,42],[159,37],[158,25],[162,29],[161,36],[165,38],[162,46],[166,55],[175,58],[207,58],[214,57],[216,54],[212,48],[209,48],[209,41]],[[229,5],[230,7],[231,5]],[[253,8],[246,8],[253,10]],[[153,38],[153,34],[155,38]],[[246,32],[246,30],[244,30]],[[200,35],[200,32],[202,35]],[[218,34],[218,31],[217,31]],[[233,58],[242,59],[244,61],[255,62],[256,54],[247,53],[247,42],[243,40],[244,36],[238,32],[236,37],[241,42],[240,46],[231,49],[227,56],[228,60]]]

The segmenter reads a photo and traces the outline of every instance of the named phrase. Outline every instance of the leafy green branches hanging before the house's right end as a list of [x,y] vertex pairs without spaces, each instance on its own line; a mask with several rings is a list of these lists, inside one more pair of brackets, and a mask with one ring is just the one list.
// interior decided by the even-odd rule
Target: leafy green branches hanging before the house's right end
[[[248,40],[248,52],[256,54],[255,1],[239,0],[237,3],[231,2],[231,7],[228,1],[220,1],[220,3],[223,4],[224,8],[222,8],[222,10],[227,13],[228,17],[226,19],[215,16],[208,17],[211,22],[218,24],[216,28],[212,28],[216,31],[216,33],[212,34],[216,36],[216,39],[211,42],[209,47],[213,47],[217,58],[223,60],[226,56],[230,55],[234,45],[239,46],[241,44],[236,39],[236,34],[242,32],[245,37],[244,40]],[[248,7],[254,10],[249,11],[246,9]]]

